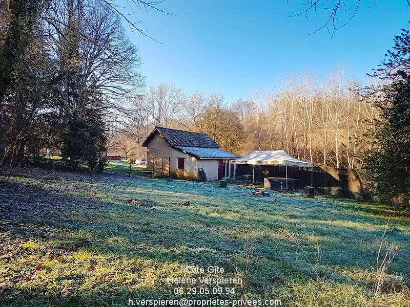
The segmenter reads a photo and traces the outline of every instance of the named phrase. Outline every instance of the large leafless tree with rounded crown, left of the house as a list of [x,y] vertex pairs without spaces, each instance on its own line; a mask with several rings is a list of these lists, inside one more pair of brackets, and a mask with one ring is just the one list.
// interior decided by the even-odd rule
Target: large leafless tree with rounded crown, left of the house
[[[125,112],[124,101],[133,99],[144,85],[138,72],[137,49],[125,37],[121,19],[107,5],[60,0],[49,8],[48,52],[58,59],[64,86],[61,96],[69,109],[85,109],[90,93],[104,101],[99,111],[109,118]],[[57,22],[58,20],[58,22]],[[66,26],[68,25],[68,26]],[[76,75],[76,98],[67,89]]]

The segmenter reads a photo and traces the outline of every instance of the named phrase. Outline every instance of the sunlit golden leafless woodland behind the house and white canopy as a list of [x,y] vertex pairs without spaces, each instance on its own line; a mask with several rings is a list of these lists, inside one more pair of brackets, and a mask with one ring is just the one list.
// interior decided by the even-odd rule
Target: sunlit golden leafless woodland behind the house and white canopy
[[142,156],[138,146],[157,125],[207,133],[240,156],[284,149],[304,161],[352,169],[358,153],[374,146],[378,118],[359,85],[338,68],[327,80],[306,72],[234,102],[224,101],[222,94],[187,95],[176,85],[149,86],[134,103],[134,120],[125,127],[129,134],[111,132],[110,146],[124,156]]

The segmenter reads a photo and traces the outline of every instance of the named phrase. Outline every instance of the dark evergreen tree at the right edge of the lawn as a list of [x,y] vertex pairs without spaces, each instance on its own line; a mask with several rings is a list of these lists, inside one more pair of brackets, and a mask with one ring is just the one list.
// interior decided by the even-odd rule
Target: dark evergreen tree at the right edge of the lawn
[[380,120],[377,146],[365,152],[362,171],[380,200],[410,207],[410,31],[403,29],[394,41],[375,70],[385,85],[370,92],[378,97]]

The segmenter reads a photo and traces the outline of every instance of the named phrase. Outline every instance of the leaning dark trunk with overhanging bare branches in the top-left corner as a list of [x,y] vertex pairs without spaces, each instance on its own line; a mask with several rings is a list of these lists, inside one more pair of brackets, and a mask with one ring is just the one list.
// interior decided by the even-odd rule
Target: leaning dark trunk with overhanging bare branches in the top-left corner
[[[131,29],[138,31],[147,37],[150,36],[146,33],[146,29],[141,27],[142,21],[133,21],[130,19],[130,12],[136,8],[139,10],[145,10],[147,13],[149,13],[149,11],[155,11],[174,15],[160,7],[162,2],[162,0],[132,0],[125,2],[126,5],[124,5],[124,3],[118,0],[77,1],[79,5],[84,7],[87,7],[92,3],[92,7],[95,10],[103,8],[107,13],[109,12],[111,16],[116,16],[121,20],[125,20]],[[3,3],[0,4],[0,9],[2,9],[1,7],[3,5],[7,5],[10,14],[10,18],[8,18],[9,25],[5,26],[7,33],[5,35],[5,43],[0,45],[0,111],[6,90],[11,85],[11,76],[17,69],[18,64],[21,61],[21,56],[26,50],[30,38],[35,35],[33,32],[35,26],[43,24],[48,34],[52,33],[52,35],[55,35],[58,33],[59,36],[65,35],[65,32],[59,31],[63,28],[71,28],[74,32],[78,31],[76,27],[72,27],[72,23],[68,23],[67,19],[59,18],[61,15],[56,14],[55,9],[64,7],[66,3],[66,0],[33,0],[30,2],[9,0],[3,1]],[[61,12],[61,10],[58,11]],[[87,11],[79,11],[78,17],[87,20],[90,15]],[[52,31],[47,31],[50,30],[50,27]],[[101,27],[104,27],[104,25],[100,24],[98,26],[98,28]],[[81,33],[81,31],[78,31],[78,34],[85,39],[88,38],[87,33]],[[68,35],[70,36],[72,34]],[[69,36],[67,37],[67,40],[70,40]],[[90,37],[90,40],[92,41],[93,37]]]

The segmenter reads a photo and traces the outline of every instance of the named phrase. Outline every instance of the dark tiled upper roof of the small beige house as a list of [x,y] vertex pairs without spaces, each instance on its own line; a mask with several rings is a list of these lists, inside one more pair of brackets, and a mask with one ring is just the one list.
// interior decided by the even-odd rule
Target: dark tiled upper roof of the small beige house
[[147,147],[157,132],[159,132],[171,146],[219,148],[219,145],[207,134],[163,127],[155,127],[154,131],[152,131],[144,143],[142,143],[142,146]]

